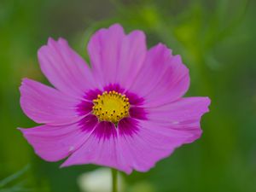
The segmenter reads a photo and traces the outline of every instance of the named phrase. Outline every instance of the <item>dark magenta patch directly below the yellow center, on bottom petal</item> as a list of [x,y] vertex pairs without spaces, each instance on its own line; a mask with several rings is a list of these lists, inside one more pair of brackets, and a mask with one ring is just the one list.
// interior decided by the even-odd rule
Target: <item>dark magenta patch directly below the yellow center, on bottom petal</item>
[[93,134],[99,139],[109,139],[110,137],[116,137],[117,131],[113,123],[108,121],[102,121],[96,125]]

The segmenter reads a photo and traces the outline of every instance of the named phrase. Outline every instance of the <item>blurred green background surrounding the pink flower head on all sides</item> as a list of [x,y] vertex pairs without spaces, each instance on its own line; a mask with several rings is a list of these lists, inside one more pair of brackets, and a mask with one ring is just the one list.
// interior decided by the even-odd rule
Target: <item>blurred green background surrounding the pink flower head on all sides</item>
[[33,153],[16,130],[36,125],[20,109],[20,79],[46,83],[37,50],[47,38],[67,38],[86,57],[90,34],[119,22],[126,32],[146,32],[148,47],[162,42],[182,55],[187,96],[212,99],[201,139],[150,172],[124,175],[125,191],[255,192],[255,19],[253,0],[1,0],[0,191],[76,192],[79,175],[97,168],[59,169]]

